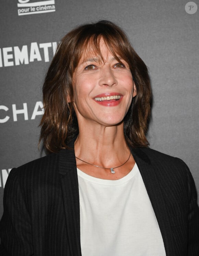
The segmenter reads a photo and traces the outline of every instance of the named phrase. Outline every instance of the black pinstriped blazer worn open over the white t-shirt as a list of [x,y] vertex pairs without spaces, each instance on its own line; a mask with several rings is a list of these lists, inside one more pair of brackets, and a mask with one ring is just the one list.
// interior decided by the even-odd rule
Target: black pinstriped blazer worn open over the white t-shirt
[[[74,147],[74,141],[69,146]],[[188,167],[180,159],[149,148],[131,148],[131,152],[159,223],[166,255],[198,256],[199,209]],[[63,149],[12,169],[3,203],[1,256],[81,255],[74,150]]]

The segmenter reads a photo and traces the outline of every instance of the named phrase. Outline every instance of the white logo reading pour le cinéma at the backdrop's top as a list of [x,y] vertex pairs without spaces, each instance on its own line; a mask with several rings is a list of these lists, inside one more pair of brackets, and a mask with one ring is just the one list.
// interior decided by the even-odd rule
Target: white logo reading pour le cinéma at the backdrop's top
[[18,0],[18,15],[55,12],[55,0],[30,2],[30,0]]

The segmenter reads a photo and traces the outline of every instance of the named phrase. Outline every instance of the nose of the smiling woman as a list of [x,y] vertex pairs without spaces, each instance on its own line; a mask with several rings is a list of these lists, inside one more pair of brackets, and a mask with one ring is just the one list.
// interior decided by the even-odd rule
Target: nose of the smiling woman
[[99,84],[100,86],[109,87],[117,84],[117,78],[114,75],[114,71],[110,67],[104,67],[101,69]]

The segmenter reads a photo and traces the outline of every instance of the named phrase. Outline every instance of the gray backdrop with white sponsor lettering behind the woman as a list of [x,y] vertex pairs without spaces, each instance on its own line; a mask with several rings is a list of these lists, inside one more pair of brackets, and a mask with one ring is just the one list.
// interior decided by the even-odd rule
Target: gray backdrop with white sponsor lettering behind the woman
[[[151,148],[182,158],[199,190],[199,10],[187,13],[184,0],[37,2],[1,0],[0,217],[9,170],[44,154],[37,148],[41,89],[56,42],[74,26],[99,19],[124,28],[149,67]],[[189,6],[189,12],[196,8]]]

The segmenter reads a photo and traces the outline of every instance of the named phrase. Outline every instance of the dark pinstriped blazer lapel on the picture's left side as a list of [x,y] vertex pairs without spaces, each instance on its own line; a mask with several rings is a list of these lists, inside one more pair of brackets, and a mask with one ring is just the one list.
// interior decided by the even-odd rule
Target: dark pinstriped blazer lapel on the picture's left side
[[[74,148],[74,143],[71,142],[68,146]],[[73,149],[63,149],[59,154],[59,174],[70,255],[81,256],[80,200],[75,154]]]

